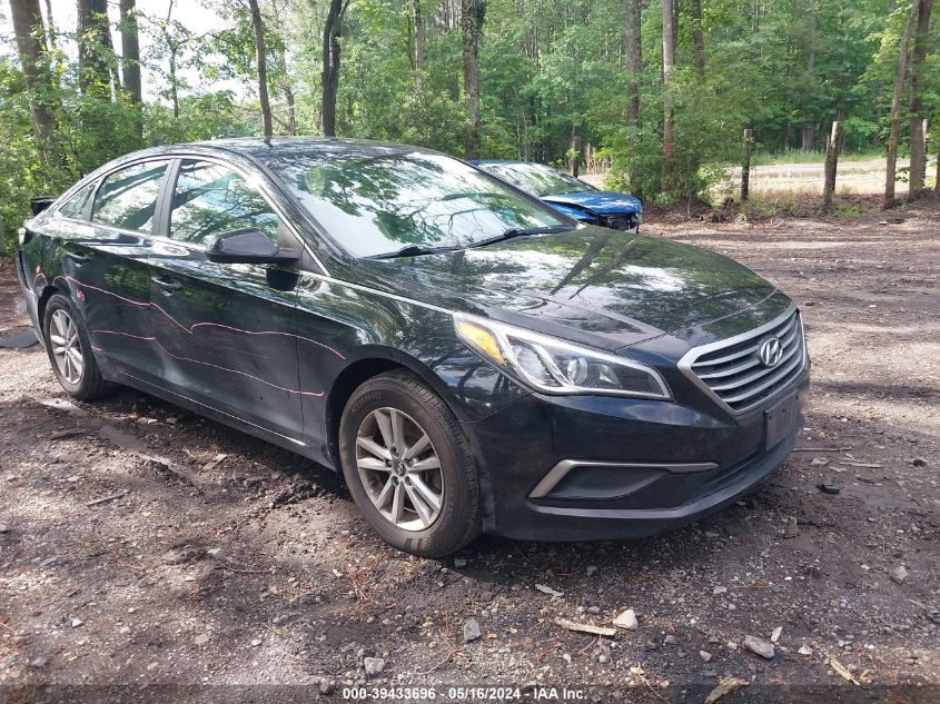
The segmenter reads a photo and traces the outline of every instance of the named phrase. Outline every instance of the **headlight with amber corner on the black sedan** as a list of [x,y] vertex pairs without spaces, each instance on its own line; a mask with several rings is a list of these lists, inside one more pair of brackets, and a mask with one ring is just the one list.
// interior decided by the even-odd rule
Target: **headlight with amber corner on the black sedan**
[[454,327],[469,347],[540,391],[671,398],[655,369],[623,357],[459,314]]

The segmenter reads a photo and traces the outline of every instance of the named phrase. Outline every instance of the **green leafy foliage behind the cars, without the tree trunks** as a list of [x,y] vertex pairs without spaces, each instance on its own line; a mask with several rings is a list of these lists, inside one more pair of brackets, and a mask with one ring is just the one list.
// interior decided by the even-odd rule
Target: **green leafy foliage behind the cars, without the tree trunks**
[[[24,90],[16,56],[0,53],[8,57],[0,58],[0,216],[8,236],[27,216],[31,196],[59,192],[121,153],[260,131],[247,6],[204,3],[221,18],[219,27],[190,26],[179,1],[172,18],[139,13],[148,86],[142,111],[113,86],[120,57],[98,30],[85,39],[96,60],[80,77],[75,32],[59,28],[58,48],[42,58],[49,80],[33,96]],[[681,2],[669,95],[661,80],[662,0],[642,4],[642,109],[639,125],[629,128],[622,0],[487,0],[479,65],[483,156],[561,166],[577,137],[581,155],[590,151],[610,163],[610,187],[647,201],[716,194],[722,168],[741,162],[744,128],[754,130],[758,162],[770,158],[761,152],[793,159],[790,152],[801,149],[804,130],[812,143],[800,159],[820,159],[813,153],[822,151],[837,117],[843,120],[843,159],[878,156],[908,0],[702,0],[702,73],[692,60],[692,3]],[[458,7],[454,0],[420,0],[425,70],[418,76],[412,0],[350,2],[340,28],[340,135],[463,153],[467,115]],[[286,129],[291,95],[299,133],[318,133],[326,3],[261,0],[261,11],[275,130]],[[110,43],[120,47],[121,28],[111,29]],[[921,96],[927,115],[940,110],[936,34],[934,17]],[[56,118],[44,165],[33,142],[30,98],[50,106]],[[667,159],[666,99],[674,106],[675,135]],[[908,101],[906,95],[901,153]],[[940,119],[930,120],[930,128],[937,143]]]

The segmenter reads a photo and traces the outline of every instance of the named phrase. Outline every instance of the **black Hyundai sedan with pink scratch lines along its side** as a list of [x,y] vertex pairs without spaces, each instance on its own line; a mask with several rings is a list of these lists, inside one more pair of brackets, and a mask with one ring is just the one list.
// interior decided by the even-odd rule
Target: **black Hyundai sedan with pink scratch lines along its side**
[[793,448],[809,359],[771,284],[585,226],[434,151],[129,155],[26,224],[61,385],[131,386],[342,470],[392,545],[635,537]]

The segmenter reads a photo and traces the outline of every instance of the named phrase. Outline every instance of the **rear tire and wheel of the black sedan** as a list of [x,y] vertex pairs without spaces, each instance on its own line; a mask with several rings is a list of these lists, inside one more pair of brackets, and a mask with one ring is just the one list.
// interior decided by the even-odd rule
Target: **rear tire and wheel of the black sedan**
[[[69,325],[71,327],[68,327]],[[71,333],[68,340],[62,336],[63,331]],[[71,301],[62,294],[53,294],[46,304],[46,311],[42,315],[42,334],[52,371],[62,388],[72,397],[79,400],[91,400],[106,395],[111,389],[111,385],[101,376],[101,370],[95,361],[85,323]],[[62,340],[67,344],[57,344]],[[62,349],[65,349],[62,354],[57,351]],[[66,358],[68,358],[67,361]]]

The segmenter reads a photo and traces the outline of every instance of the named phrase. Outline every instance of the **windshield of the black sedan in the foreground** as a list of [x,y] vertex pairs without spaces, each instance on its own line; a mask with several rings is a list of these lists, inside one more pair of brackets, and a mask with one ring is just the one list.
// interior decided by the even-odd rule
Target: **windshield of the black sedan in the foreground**
[[509,229],[567,225],[541,204],[444,155],[325,150],[293,153],[268,166],[356,257],[410,246],[464,248]]

